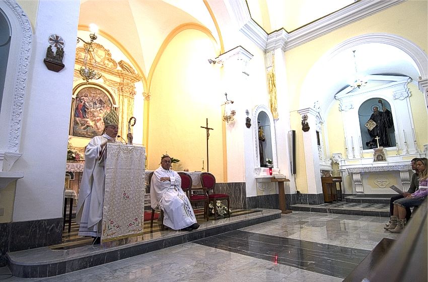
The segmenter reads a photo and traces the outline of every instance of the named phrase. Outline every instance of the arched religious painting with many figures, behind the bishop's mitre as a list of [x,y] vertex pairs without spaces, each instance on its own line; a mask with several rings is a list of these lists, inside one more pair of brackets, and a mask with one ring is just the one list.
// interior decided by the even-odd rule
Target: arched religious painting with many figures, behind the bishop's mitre
[[101,135],[103,116],[116,110],[111,93],[101,85],[85,83],[74,89],[73,98],[69,134],[85,138]]

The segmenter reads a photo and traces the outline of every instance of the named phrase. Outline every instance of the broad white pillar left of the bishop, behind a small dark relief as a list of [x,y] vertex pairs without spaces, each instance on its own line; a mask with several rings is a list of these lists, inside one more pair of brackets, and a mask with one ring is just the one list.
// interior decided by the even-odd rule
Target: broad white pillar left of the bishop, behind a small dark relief
[[[32,45],[23,114],[13,221],[62,217],[70,96],[73,86],[79,1],[41,1]],[[59,72],[43,63],[50,34],[65,41]]]

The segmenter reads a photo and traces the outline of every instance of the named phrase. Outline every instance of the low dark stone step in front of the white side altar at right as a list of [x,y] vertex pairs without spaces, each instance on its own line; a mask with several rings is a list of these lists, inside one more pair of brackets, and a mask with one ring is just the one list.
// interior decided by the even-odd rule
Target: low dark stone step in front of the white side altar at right
[[388,203],[338,201],[318,205],[294,204],[290,206],[290,209],[301,212],[387,218],[389,217],[389,198]]

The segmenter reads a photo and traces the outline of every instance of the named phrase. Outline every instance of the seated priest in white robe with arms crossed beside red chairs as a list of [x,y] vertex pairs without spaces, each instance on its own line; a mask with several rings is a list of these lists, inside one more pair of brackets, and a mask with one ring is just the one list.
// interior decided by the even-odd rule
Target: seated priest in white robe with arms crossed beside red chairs
[[150,187],[152,208],[164,211],[164,225],[174,230],[192,231],[199,228],[186,194],[181,189],[181,178],[172,169],[171,157],[164,155],[161,166],[155,170]]

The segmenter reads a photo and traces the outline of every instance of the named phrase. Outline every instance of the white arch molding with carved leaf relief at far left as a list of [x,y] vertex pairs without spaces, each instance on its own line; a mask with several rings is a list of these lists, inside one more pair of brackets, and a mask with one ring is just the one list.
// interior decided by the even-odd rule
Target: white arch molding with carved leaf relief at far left
[[[21,130],[22,130],[22,115],[24,107],[24,96],[27,90],[28,70],[31,59],[31,43],[32,43],[32,29],[27,15],[15,1],[3,1],[4,4],[11,10],[15,18],[12,18],[6,13],[7,19],[11,22],[12,41],[11,49],[19,50],[17,57],[9,54],[9,63],[7,72],[7,79],[13,80],[13,102],[11,105],[11,114],[9,122],[9,135],[8,135],[8,151],[19,152],[21,143]],[[5,11],[6,12],[6,11]],[[19,28],[17,28],[19,27]],[[17,28],[16,30],[14,30]],[[15,63],[11,63],[14,61]],[[6,84],[5,84],[6,89]],[[9,105],[2,105],[2,108],[9,107]]]

